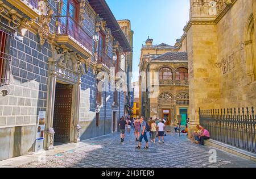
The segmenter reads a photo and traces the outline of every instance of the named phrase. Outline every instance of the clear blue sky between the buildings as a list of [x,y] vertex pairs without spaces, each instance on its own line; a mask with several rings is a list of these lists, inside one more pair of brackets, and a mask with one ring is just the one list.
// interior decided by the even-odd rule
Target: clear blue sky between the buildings
[[189,19],[189,0],[106,0],[117,20],[129,19],[134,31],[133,72],[138,79],[141,46],[147,36],[153,44],[174,45]]

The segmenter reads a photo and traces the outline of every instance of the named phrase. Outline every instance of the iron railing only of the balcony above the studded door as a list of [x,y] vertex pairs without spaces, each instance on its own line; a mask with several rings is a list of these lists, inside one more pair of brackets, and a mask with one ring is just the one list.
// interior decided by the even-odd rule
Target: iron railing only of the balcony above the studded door
[[85,30],[76,22],[71,16],[56,16],[59,27],[57,28],[57,34],[63,36],[69,36],[72,40],[78,44],[84,46],[90,52],[93,49],[93,39]]

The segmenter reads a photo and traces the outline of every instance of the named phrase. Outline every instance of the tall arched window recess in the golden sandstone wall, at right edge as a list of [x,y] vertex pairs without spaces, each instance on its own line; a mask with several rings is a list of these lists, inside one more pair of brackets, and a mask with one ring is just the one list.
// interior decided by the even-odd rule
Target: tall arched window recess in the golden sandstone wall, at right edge
[[247,82],[250,84],[256,80],[256,43],[255,43],[255,28],[254,17],[251,14],[250,19],[246,25],[246,72]]

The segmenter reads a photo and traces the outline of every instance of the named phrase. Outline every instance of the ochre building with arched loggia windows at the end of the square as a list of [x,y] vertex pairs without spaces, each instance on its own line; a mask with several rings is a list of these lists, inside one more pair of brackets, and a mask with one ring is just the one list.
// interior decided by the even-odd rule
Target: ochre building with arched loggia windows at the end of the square
[[[167,126],[188,118],[188,60],[185,36],[175,46],[146,40],[139,64],[139,106],[146,118],[165,118]],[[146,88],[147,87],[147,88]]]

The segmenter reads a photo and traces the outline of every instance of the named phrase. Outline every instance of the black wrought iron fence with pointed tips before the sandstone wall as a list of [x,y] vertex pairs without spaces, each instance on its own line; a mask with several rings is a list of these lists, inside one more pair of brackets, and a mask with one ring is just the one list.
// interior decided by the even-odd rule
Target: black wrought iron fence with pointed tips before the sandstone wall
[[234,147],[256,153],[256,115],[249,109],[199,109],[201,126],[210,132],[210,138]]

